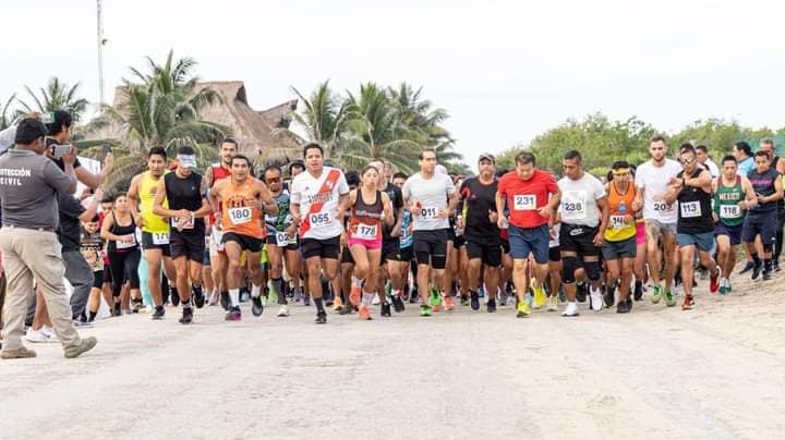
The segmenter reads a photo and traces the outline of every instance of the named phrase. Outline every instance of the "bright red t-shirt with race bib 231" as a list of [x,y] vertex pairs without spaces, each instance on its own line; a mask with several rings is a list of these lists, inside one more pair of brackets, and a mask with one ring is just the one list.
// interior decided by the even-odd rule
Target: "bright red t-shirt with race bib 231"
[[536,228],[547,223],[548,219],[540,216],[538,209],[547,205],[551,194],[558,193],[558,185],[553,175],[542,170],[534,170],[528,181],[511,171],[499,180],[498,192],[507,198],[510,224]]

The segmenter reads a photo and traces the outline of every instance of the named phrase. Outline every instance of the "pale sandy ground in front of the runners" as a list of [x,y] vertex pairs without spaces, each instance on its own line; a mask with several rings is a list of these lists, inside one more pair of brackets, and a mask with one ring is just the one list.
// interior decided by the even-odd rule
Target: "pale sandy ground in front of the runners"
[[110,318],[82,358],[0,362],[0,438],[783,438],[783,280],[573,319]]

